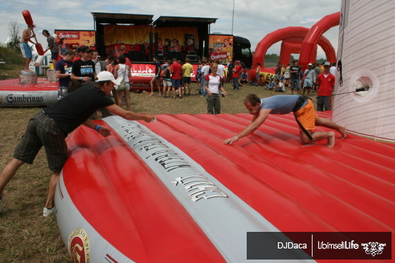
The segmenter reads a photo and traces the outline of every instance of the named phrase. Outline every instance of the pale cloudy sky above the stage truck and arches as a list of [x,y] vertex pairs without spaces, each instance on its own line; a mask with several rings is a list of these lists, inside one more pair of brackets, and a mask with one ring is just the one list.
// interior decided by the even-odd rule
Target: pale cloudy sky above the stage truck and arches
[[[118,12],[128,14],[179,17],[218,18],[211,25],[211,33],[231,33],[234,3],[234,35],[246,37],[252,44],[252,51],[265,35],[287,26],[310,28],[325,15],[340,11],[341,0],[217,0],[217,1],[164,1],[117,0],[111,1],[38,1],[19,0],[0,3],[0,42],[8,37],[7,25],[17,21],[21,30],[26,28],[23,10],[29,10],[37,25],[38,41],[46,47],[42,30],[53,33],[55,29],[93,30],[91,12]],[[338,27],[337,27],[338,28]],[[338,29],[337,29],[338,30]],[[337,32],[331,33],[337,38]],[[335,47],[336,48],[336,47]]]

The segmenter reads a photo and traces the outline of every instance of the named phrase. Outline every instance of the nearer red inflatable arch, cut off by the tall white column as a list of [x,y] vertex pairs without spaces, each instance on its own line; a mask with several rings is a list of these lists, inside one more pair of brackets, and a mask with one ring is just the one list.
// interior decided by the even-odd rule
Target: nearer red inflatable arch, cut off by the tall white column
[[[315,57],[313,57],[311,51],[317,43],[317,40],[322,37],[329,28],[333,28],[333,26],[339,26],[340,24],[340,12],[335,12],[332,15],[327,15],[319,20],[311,29],[308,31],[306,35],[303,45],[301,47],[301,53],[299,56],[299,66],[303,66],[306,69],[308,63],[315,61]],[[322,47],[324,49],[324,47]],[[326,53],[326,60],[328,62],[336,62],[336,54],[335,53]]]

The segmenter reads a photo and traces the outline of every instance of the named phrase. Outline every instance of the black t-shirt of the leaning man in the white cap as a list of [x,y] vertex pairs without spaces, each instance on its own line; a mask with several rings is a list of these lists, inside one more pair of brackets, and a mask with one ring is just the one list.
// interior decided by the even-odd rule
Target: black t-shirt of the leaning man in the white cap
[[94,87],[95,82],[85,82],[54,105],[43,109],[67,134],[85,122],[98,108],[114,102],[103,91]]

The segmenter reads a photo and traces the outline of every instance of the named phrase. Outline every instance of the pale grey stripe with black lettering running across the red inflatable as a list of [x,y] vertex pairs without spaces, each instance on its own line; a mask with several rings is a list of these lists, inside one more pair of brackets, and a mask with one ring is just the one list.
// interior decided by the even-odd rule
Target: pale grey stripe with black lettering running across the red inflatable
[[227,262],[247,262],[247,232],[279,231],[191,157],[146,126],[118,116],[104,120],[146,161]]

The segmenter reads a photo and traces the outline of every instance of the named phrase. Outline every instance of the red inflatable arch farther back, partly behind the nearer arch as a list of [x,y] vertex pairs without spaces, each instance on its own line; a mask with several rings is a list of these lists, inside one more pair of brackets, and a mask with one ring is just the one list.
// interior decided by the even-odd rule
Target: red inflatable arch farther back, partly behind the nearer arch
[[[267,34],[256,46],[254,57],[252,58],[253,66],[259,62],[264,67],[264,57],[266,51],[274,43],[277,43],[281,40],[283,42],[289,42],[289,43],[303,43],[304,39],[306,38],[306,35],[308,35],[309,30],[310,29],[304,28],[302,26],[290,26],[288,28],[281,28],[270,34]],[[329,42],[329,40],[326,39],[326,37],[320,35],[317,44],[322,47],[327,58],[331,57],[334,58],[334,61],[336,60],[335,48],[333,48],[331,42]],[[310,52],[309,54],[311,55],[311,53],[313,53],[313,51],[315,51],[316,49],[317,47],[313,45],[313,47],[309,51]],[[303,46],[302,46],[302,50],[303,50]],[[284,55],[286,54],[288,53],[284,53]],[[289,57],[285,57],[285,56],[280,57],[280,61],[282,64],[288,64]],[[315,62],[315,59],[311,62]]]

